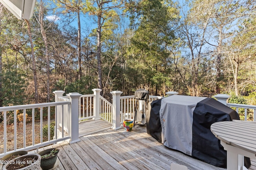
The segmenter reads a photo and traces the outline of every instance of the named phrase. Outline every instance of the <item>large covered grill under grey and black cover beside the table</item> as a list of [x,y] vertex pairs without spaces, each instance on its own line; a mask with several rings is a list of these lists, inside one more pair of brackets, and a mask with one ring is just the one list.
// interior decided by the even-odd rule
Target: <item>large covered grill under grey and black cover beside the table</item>
[[212,98],[173,95],[148,104],[147,133],[166,147],[226,167],[226,150],[210,131],[217,121],[239,119],[236,111]]

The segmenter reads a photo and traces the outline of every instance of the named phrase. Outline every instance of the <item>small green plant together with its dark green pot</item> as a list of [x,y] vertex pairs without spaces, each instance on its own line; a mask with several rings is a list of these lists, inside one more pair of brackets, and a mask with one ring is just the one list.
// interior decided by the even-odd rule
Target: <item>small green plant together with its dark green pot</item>
[[54,167],[58,152],[58,149],[46,149],[38,153],[41,155],[41,168],[43,170],[48,170]]

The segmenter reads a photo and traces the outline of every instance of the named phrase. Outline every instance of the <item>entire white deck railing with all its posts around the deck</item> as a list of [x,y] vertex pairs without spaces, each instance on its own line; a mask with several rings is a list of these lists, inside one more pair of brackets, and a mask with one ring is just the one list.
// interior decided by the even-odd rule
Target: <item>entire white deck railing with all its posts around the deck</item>
[[[45,104],[33,104],[33,105],[21,105],[21,106],[9,106],[0,107],[0,114],[3,115],[2,132],[3,141],[2,152],[0,150],[0,157],[6,153],[13,152],[15,150],[31,150],[39,147],[44,147],[52,143],[64,141],[70,139],[70,143],[79,141],[78,134],[78,122],[86,119],[104,119],[112,123],[113,129],[121,128],[122,121],[125,118],[134,118],[136,102],[138,105],[145,106],[145,101],[135,100],[134,96],[120,96],[122,92],[113,91],[113,103],[111,104],[102,96],[100,96],[100,89],[93,89],[94,94],[81,95],[78,93],[70,93],[67,96],[63,96],[64,91],[55,91],[55,101]],[[248,113],[250,113],[250,120],[256,121],[256,106],[244,105],[244,104],[230,104],[227,103],[228,95],[216,95],[218,101],[241,111],[244,109],[245,120],[248,120]],[[157,100],[160,96],[149,96],[149,101]],[[139,106],[140,107],[140,106]],[[146,110],[146,109],[145,109]],[[17,113],[22,111],[23,115],[30,112],[32,120],[30,122],[31,128],[28,129],[28,123],[26,123],[26,116],[22,119],[22,134],[18,134],[19,122],[17,121]],[[36,119],[40,114],[40,118]],[[54,120],[50,117],[54,117]],[[45,120],[46,118],[46,120]],[[13,123],[8,123],[8,120]],[[35,130],[36,121],[40,122],[40,130]],[[50,122],[55,121],[54,139],[50,139]],[[48,125],[48,139],[43,139],[43,126]],[[7,128],[13,128],[12,139],[8,138]],[[0,129],[1,130],[1,129]],[[28,144],[28,132],[31,131],[31,144]],[[39,142],[36,141],[36,135],[40,134]],[[22,146],[18,146],[18,135],[23,135]],[[0,141],[1,142],[1,141]],[[12,148],[7,146],[13,145]],[[1,149],[1,147],[0,147]]]

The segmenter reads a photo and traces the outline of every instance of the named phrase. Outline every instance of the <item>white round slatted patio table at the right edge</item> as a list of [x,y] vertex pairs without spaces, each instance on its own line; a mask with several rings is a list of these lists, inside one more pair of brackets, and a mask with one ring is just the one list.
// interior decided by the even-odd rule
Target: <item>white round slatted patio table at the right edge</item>
[[247,170],[244,156],[256,158],[256,122],[220,121],[211,125],[211,131],[227,150],[227,170]]

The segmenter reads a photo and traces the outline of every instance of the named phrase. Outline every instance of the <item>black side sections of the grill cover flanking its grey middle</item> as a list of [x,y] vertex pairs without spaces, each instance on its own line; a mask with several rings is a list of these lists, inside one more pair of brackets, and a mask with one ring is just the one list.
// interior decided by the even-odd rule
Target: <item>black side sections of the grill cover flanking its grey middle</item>
[[[162,143],[162,125],[159,114],[161,101],[162,99],[150,102],[146,114],[147,133],[160,143]],[[205,98],[198,102],[193,111],[191,156],[214,166],[226,168],[226,150],[220,145],[220,140],[212,134],[210,126],[217,121],[232,121],[233,119],[240,119],[238,113],[217,100]]]

